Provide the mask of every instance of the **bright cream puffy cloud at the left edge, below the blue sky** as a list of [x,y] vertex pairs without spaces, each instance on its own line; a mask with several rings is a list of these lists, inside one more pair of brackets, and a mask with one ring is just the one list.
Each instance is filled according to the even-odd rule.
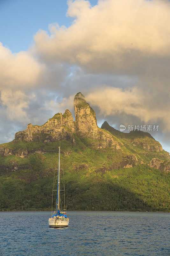
[[35,86],[42,70],[29,52],[14,54],[0,43],[0,89]]

